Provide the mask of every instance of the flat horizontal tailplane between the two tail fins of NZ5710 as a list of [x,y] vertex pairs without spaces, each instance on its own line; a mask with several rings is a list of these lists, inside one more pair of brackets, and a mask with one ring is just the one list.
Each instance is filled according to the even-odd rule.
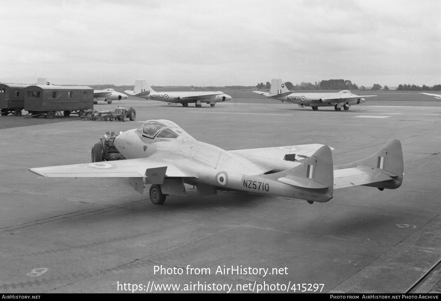
[[334,170],[334,189],[387,181],[391,180],[392,176],[396,175],[366,166],[336,169]]

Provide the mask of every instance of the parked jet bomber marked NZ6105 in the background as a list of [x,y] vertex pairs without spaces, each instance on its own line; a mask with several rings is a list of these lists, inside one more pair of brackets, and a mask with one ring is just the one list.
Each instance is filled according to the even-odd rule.
[[273,78],[271,88],[268,92],[253,91],[268,98],[280,100],[282,103],[297,103],[299,107],[311,106],[313,110],[318,110],[319,106],[334,106],[336,111],[349,110],[353,104],[364,103],[363,97],[372,97],[377,95],[355,95],[351,91],[343,90],[338,93],[295,93],[290,92],[285,87],[284,80]]

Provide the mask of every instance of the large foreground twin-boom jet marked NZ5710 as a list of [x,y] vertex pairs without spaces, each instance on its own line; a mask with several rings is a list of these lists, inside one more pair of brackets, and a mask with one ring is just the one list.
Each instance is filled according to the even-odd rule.
[[125,160],[102,162],[101,144],[92,148],[92,162],[31,168],[48,177],[125,177],[140,194],[151,184],[150,200],[186,196],[184,184],[200,196],[217,191],[277,195],[328,202],[333,190],[357,185],[396,189],[403,181],[403,153],[392,140],[363,160],[333,166],[331,148],[322,144],[290,145],[236,151],[200,142],[168,120],[145,121],[120,132],[114,146]]

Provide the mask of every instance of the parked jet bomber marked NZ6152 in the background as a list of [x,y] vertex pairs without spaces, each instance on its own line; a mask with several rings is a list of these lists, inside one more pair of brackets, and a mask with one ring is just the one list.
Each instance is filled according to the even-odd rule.
[[202,106],[202,103],[209,103],[210,106],[214,106],[216,103],[229,101],[231,99],[230,95],[221,91],[155,92],[147,84],[146,80],[136,80],[134,90],[126,90],[124,92],[131,96],[144,99],[159,100],[167,103],[182,103],[183,106],[188,106],[188,103],[195,103],[197,107]]

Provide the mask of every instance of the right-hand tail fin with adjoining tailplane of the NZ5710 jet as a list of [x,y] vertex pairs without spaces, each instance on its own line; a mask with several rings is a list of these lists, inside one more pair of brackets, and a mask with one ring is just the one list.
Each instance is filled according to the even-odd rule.
[[335,188],[363,185],[396,189],[403,182],[403,168],[400,140],[393,139],[363,160],[334,166]]

